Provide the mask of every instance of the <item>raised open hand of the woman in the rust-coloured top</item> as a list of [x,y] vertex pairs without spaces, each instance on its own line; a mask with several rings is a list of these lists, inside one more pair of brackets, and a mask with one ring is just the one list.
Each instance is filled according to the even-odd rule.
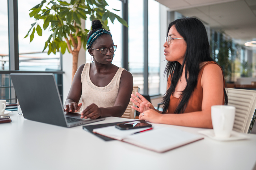
[[146,110],[149,110],[149,109],[155,110],[154,106],[149,101],[147,101],[145,97],[143,97],[138,92],[136,92],[136,95],[138,95],[140,98],[135,96],[134,94],[131,94],[133,98],[130,98],[130,101],[132,101],[137,106],[137,107],[132,106],[133,109],[135,109],[140,113],[145,112]]

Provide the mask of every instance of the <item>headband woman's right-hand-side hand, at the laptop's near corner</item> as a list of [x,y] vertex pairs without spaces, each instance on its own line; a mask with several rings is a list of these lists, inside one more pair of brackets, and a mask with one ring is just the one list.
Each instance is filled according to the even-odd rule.
[[98,117],[100,117],[101,115],[101,110],[100,108],[95,105],[94,103],[92,103],[91,105],[89,105],[88,107],[86,107],[82,112],[81,112],[81,118],[91,118],[91,119],[96,119]]

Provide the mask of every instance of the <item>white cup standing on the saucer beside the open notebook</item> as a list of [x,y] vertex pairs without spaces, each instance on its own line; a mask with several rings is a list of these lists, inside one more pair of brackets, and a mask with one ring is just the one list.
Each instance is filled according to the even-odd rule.
[[215,137],[229,138],[235,120],[235,107],[225,105],[211,106],[211,122]]

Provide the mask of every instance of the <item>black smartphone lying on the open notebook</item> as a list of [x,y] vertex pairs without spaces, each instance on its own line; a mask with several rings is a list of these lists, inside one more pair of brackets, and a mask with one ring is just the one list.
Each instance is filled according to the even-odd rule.
[[124,122],[121,124],[116,124],[116,128],[121,130],[128,130],[128,129],[136,129],[136,128],[143,128],[143,127],[152,127],[152,125],[148,124],[145,121],[134,121],[134,122]]

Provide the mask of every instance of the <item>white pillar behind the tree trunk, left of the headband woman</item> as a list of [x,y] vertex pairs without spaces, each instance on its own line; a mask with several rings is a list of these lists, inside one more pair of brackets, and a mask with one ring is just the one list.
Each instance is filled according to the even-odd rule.
[[[85,29],[85,20],[81,20],[81,23],[82,23],[81,25],[84,26],[82,27],[82,29]],[[77,64],[78,67],[86,63],[85,52],[86,52],[85,49],[83,49],[82,47],[78,55],[78,64]],[[69,89],[71,87],[71,78],[72,78],[72,54],[69,53],[67,50],[63,55],[62,65],[63,65],[63,71],[65,72],[63,74],[63,106],[64,106],[64,103],[69,93]]]

